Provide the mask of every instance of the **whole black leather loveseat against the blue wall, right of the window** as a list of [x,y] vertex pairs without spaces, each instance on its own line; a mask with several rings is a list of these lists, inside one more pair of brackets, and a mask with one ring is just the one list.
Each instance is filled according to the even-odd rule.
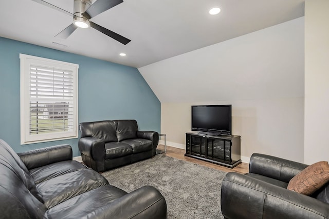
[[136,120],[80,123],[82,161],[98,172],[155,156],[159,134],[138,131]]

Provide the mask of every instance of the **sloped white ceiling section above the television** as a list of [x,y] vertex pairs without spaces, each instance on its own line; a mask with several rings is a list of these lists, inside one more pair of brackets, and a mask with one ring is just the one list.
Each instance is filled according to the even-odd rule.
[[138,69],[161,103],[304,96],[304,17]]

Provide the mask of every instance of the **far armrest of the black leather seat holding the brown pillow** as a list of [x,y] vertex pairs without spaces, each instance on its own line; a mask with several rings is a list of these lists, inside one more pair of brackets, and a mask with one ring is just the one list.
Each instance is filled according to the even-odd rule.
[[289,183],[291,178],[308,165],[280,157],[254,153],[250,157],[249,173],[256,173]]

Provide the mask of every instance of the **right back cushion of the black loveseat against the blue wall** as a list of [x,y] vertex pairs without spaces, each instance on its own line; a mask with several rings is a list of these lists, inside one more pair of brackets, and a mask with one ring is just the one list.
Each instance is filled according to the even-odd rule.
[[121,142],[126,139],[137,138],[138,126],[136,120],[114,120],[117,127],[117,138]]

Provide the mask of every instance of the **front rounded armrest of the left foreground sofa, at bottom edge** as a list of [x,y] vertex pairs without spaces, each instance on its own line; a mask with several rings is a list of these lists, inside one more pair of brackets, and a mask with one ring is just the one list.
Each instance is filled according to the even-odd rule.
[[167,218],[167,203],[161,193],[152,186],[144,186],[118,198],[108,211],[111,218]]

